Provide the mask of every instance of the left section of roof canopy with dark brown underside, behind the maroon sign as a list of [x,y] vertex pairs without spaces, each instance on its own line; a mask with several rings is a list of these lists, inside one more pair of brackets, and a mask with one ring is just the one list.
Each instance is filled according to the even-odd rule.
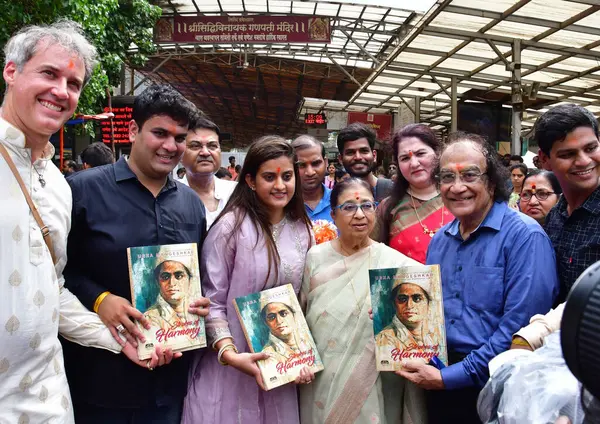
[[[163,17],[206,15],[328,16],[331,43],[161,43],[142,69],[202,108],[234,142],[266,133],[304,132],[305,98],[347,102],[410,29],[419,14],[390,7],[434,0],[179,0],[161,1]],[[133,91],[133,90],[131,90]],[[302,116],[303,117],[303,116]],[[234,146],[235,147],[235,146]]]

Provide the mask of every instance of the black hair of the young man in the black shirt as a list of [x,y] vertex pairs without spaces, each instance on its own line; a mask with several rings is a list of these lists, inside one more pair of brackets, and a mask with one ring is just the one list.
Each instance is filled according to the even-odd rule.
[[170,85],[155,84],[145,89],[133,102],[132,118],[141,129],[157,115],[168,116],[180,125],[189,125],[198,108]]

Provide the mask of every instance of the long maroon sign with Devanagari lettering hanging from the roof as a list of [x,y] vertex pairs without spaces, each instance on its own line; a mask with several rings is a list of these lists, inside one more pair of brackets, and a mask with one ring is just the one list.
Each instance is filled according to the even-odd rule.
[[330,43],[328,17],[173,16],[159,19],[156,43]]

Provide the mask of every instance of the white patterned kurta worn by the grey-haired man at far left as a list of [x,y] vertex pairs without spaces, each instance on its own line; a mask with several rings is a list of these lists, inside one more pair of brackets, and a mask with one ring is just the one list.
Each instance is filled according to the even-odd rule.
[[0,424],[73,423],[58,333],[84,346],[121,350],[98,316],[63,288],[71,190],[49,160],[32,168],[23,134],[0,119],[0,143],[25,181],[49,227],[58,262],[53,265],[25,197],[0,156]]

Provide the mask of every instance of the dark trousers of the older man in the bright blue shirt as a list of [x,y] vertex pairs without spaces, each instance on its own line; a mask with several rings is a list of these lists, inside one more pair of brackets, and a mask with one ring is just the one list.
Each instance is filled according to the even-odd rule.
[[429,424],[481,424],[477,414],[480,389],[427,391]]

